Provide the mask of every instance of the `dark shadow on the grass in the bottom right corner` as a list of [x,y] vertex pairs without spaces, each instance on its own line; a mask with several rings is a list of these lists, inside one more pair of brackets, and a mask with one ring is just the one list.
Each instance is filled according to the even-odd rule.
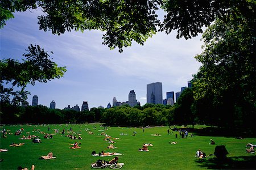
[[196,163],[199,167],[207,169],[256,169],[256,156],[199,159]]

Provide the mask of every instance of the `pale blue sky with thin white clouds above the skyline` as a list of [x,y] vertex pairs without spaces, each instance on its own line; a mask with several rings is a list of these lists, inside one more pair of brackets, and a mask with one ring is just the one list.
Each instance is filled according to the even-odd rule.
[[200,63],[194,58],[202,52],[201,35],[193,39],[176,39],[176,32],[166,35],[158,32],[144,45],[133,42],[131,47],[110,50],[102,45],[101,31],[66,32],[52,35],[51,31],[39,30],[38,19],[42,11],[32,10],[16,12],[15,18],[7,20],[0,29],[0,53],[2,58],[21,59],[30,44],[40,45],[59,66],[66,66],[63,78],[48,83],[36,83],[28,86],[32,96],[39,97],[39,104],[46,105],[52,100],[56,108],[88,101],[89,108],[127,101],[131,90],[137,100],[146,103],[146,86],[153,82],[162,82],[163,98],[168,91],[180,91],[187,86],[192,74],[196,74]]

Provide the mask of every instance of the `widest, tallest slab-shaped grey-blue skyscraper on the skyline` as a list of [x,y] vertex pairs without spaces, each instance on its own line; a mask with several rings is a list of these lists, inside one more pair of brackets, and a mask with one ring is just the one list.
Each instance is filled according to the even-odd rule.
[[163,104],[162,83],[147,84],[147,103]]

